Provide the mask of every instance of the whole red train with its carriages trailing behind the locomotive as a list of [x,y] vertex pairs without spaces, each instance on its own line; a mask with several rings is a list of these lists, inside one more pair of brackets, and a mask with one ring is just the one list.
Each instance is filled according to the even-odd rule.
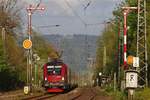
[[77,87],[75,74],[60,59],[49,61],[43,66],[43,86],[49,93],[65,92]]

